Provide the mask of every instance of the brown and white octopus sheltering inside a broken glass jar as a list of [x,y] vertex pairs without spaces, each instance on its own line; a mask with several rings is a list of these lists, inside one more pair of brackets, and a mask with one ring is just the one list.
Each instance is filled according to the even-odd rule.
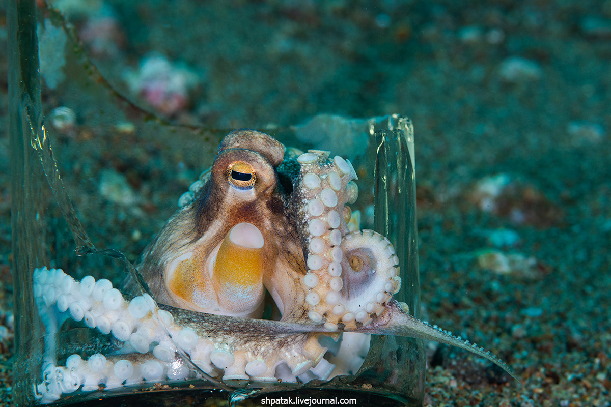
[[231,388],[355,375],[371,334],[463,348],[518,380],[496,356],[393,298],[401,279],[392,244],[349,228],[356,180],[349,160],[329,151],[296,153],[263,132],[230,132],[121,290],[35,270],[48,333],[74,320],[119,344],[64,364],[49,339],[39,400],[196,377]]

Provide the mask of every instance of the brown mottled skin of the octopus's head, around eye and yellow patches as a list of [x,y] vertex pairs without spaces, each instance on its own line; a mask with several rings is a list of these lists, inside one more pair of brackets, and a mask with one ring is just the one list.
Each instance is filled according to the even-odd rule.
[[[196,201],[179,209],[148,245],[136,265],[159,303],[206,312],[194,304],[175,298],[166,287],[164,272],[180,254],[197,248],[210,254],[227,233],[241,222],[252,223],[265,239],[263,284],[278,298],[294,298],[303,303],[298,280],[305,274],[304,252],[287,197],[276,188],[276,167],[284,157],[284,145],[269,135],[252,130],[235,130],[225,136],[211,169],[211,177]],[[254,193],[236,193],[227,181],[227,168],[244,161],[255,170]],[[203,272],[203,270],[202,270]],[[276,295],[274,295],[276,297]],[[279,304],[280,305],[280,304]],[[280,306],[282,308],[282,306]],[[283,320],[299,319],[299,308],[284,309]],[[296,312],[297,315],[293,315]]]

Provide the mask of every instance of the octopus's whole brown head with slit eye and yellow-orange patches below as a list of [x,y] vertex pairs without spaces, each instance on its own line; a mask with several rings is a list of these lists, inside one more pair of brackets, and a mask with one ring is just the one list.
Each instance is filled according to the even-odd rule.
[[274,267],[269,242],[284,218],[276,167],[284,146],[266,134],[225,137],[206,184],[145,250],[137,266],[159,301],[194,311],[262,315],[263,273]]

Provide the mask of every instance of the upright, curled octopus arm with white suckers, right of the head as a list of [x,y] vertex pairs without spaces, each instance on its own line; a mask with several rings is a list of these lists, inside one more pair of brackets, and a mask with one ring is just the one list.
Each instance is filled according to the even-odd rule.
[[384,311],[401,280],[389,240],[373,231],[348,232],[351,211],[345,204],[356,201],[356,173],[349,161],[328,156],[317,150],[299,156],[295,201],[307,245],[308,270],[302,283],[308,317],[335,331],[338,323],[347,329],[370,323],[370,314]]

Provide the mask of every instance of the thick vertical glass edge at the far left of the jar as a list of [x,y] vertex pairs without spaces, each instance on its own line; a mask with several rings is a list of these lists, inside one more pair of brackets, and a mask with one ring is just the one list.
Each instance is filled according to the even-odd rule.
[[12,268],[15,316],[13,403],[34,402],[35,371],[42,360],[43,345],[32,297],[31,270],[48,259],[40,239],[44,218],[37,185],[42,171],[31,146],[32,132],[42,120],[38,45],[34,0],[10,1],[7,9],[9,57],[9,137],[12,178]]

